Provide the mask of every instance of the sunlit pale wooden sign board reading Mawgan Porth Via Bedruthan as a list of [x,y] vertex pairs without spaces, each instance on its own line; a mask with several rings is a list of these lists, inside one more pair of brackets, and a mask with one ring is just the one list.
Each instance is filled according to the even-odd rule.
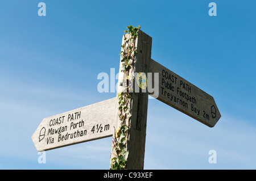
[[32,135],[38,151],[110,137],[116,98],[44,118]]

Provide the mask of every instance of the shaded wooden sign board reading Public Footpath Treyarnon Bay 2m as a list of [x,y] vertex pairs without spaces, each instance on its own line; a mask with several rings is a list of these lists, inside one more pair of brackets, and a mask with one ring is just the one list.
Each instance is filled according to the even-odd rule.
[[[208,127],[214,127],[221,114],[212,96],[152,59],[150,72],[159,73],[159,95],[156,99]],[[154,78],[152,81],[155,85]]]

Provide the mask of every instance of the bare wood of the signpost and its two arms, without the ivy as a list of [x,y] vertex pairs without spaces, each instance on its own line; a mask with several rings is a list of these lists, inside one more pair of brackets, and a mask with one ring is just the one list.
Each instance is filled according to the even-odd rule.
[[[127,39],[125,35],[122,41]],[[152,38],[139,30],[135,41],[137,55],[132,73],[153,73],[152,85],[158,87],[155,98],[171,107],[200,121],[208,127],[214,127],[221,114],[212,96],[199,89],[184,78],[151,59]],[[121,71],[122,60],[120,61]],[[158,74],[157,82],[154,73]],[[125,78],[118,79],[118,85]],[[136,81],[134,81],[136,83]],[[142,90],[133,92],[130,100],[130,130],[127,142],[126,169],[143,169],[146,142],[148,95],[152,92]],[[118,97],[118,96],[117,96]],[[90,106],[43,119],[32,135],[38,151],[45,151],[81,142],[115,136],[115,129],[119,127],[118,99],[112,98]],[[113,145],[112,145],[113,146]],[[114,153],[110,155],[114,157]]]

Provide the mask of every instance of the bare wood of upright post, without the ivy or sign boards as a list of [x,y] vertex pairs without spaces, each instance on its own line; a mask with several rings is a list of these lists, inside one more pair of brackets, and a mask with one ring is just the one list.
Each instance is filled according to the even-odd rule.
[[[127,35],[126,35],[127,36]],[[124,36],[122,42],[124,42]],[[151,46],[152,38],[146,33],[139,30],[137,40],[135,41],[135,47],[137,47],[137,54],[134,60],[134,68],[129,71],[133,73],[147,73],[150,70],[150,61],[151,61]],[[119,74],[121,73],[121,65],[119,68]],[[120,77],[119,77],[120,78]],[[118,79],[118,86],[123,79]],[[137,83],[136,77],[134,78],[134,84]],[[136,90],[132,93],[132,98],[130,102],[130,130],[129,137],[127,142],[127,150],[129,155],[127,157],[126,169],[135,170],[143,169],[144,166],[144,151],[145,151],[145,142],[146,142],[146,125],[147,125],[147,104],[148,104],[148,91],[139,89],[139,92]],[[117,96],[118,99],[118,96]],[[118,102],[118,100],[117,100]],[[114,128],[117,129],[120,125],[118,118],[118,106],[116,106],[116,118],[113,123]],[[113,137],[115,132],[113,133]],[[113,146],[113,144],[112,144]],[[111,154],[112,159],[114,157],[113,153]]]

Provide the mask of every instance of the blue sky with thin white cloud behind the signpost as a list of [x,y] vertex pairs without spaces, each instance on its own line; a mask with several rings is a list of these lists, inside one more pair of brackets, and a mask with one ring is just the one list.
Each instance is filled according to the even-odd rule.
[[39,164],[31,136],[44,117],[115,96],[97,91],[97,75],[117,73],[129,25],[222,115],[208,128],[150,99],[144,169],[256,169],[255,12],[249,0],[0,1],[0,169],[109,169],[111,138],[49,150]]

